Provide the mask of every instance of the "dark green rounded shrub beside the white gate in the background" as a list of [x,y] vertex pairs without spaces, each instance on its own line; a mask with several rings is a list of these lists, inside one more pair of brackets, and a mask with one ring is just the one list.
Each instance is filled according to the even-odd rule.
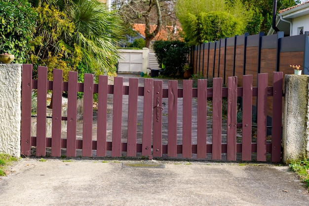
[[164,76],[180,77],[184,75],[184,66],[188,64],[190,46],[183,41],[155,41],[154,53]]

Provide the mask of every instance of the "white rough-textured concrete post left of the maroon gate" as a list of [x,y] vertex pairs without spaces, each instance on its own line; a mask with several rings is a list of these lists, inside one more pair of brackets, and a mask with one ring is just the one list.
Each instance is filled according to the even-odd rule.
[[21,64],[0,64],[0,153],[20,157]]

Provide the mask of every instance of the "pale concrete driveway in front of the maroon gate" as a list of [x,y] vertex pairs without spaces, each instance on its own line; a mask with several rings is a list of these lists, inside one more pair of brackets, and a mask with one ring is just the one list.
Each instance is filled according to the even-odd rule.
[[[131,159],[24,158],[0,179],[0,206],[305,206],[308,189],[286,166]],[[124,164],[125,165],[125,164]],[[15,171],[15,172],[14,172]]]

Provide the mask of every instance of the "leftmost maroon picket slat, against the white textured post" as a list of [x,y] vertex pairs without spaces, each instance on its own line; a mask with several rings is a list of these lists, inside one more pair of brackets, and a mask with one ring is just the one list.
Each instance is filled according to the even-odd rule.
[[21,96],[21,154],[31,155],[32,65],[23,65]]

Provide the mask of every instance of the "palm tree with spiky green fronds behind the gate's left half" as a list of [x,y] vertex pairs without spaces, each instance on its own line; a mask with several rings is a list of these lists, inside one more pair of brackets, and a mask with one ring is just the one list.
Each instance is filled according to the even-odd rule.
[[87,67],[99,74],[116,69],[116,44],[123,36],[121,20],[115,11],[109,11],[106,4],[97,0],[32,0],[32,3],[38,8],[48,6],[63,12],[64,21],[69,20],[74,25],[70,32],[68,23],[59,22],[57,30],[62,31],[61,35],[48,49],[54,56],[60,53],[60,58],[80,57]]

